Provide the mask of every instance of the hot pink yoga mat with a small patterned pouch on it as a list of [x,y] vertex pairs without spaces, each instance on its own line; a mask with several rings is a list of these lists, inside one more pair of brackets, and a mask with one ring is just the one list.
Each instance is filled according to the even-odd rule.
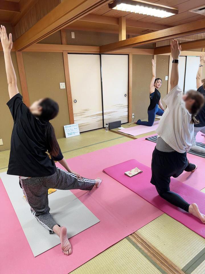
[[[124,172],[135,167],[138,167],[143,172],[132,178],[124,175]],[[109,168],[105,168],[104,172],[163,212],[167,213],[169,216],[173,217],[205,238],[205,225],[198,218],[176,206],[173,206],[158,195],[155,186],[150,183],[151,168],[141,164],[135,159],[132,159]],[[189,204],[197,203],[200,211],[205,213],[205,193],[187,186],[174,178],[171,178],[170,190],[178,193]]]

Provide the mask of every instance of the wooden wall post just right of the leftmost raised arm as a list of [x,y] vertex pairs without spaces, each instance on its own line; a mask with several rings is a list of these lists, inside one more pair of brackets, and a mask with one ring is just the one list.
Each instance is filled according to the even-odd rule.
[[21,83],[21,89],[22,89],[22,95],[23,95],[23,101],[26,106],[30,106],[30,100],[29,100],[29,94],[28,94],[28,87],[26,82],[26,73],[23,63],[23,56],[22,52],[17,51],[17,64],[19,68],[19,76],[20,76],[20,83]]

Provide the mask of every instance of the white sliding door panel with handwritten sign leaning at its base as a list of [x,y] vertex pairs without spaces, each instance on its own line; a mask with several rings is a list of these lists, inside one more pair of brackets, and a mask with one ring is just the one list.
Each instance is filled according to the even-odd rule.
[[68,54],[68,64],[74,122],[80,132],[102,128],[100,55]]

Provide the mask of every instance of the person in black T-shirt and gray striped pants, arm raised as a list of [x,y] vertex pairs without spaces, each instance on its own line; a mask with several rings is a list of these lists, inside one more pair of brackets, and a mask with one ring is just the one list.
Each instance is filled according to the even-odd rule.
[[[49,213],[48,189],[92,190],[94,186],[98,188],[102,180],[82,178],[69,168],[59,148],[54,128],[49,122],[57,116],[58,104],[50,98],[44,98],[28,108],[22,102],[11,60],[12,36],[9,34],[8,39],[2,25],[0,38],[9,85],[10,100],[7,105],[14,120],[7,174],[19,176],[20,187],[32,214],[50,233],[54,232],[60,237],[63,253],[70,255],[72,249],[67,238],[67,229],[60,227]],[[66,171],[56,168],[54,161],[58,161]]]

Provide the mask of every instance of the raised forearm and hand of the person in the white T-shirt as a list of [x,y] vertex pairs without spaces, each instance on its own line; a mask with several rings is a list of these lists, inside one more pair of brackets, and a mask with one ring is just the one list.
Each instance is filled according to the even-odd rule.
[[[179,46],[178,41],[174,39],[171,43],[171,55],[173,60],[178,59],[181,53],[181,46]],[[179,70],[178,64],[173,63],[171,69],[171,78],[170,78],[170,89],[172,90],[179,82]]]

